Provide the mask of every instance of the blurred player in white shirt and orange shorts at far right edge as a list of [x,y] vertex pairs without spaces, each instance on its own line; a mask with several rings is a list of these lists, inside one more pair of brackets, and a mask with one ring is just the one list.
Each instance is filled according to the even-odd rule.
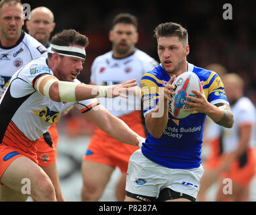
[[210,141],[214,140],[214,147],[204,165],[206,172],[201,179],[204,186],[200,188],[199,201],[206,201],[208,181],[220,179],[216,201],[243,202],[249,200],[249,186],[255,175],[255,106],[245,97],[243,79],[239,75],[228,73],[222,80],[234,115],[234,126],[208,128],[210,135],[207,136]]

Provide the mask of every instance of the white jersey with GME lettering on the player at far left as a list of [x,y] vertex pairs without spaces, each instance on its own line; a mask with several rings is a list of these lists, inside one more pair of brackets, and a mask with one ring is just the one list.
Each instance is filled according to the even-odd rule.
[[46,48],[35,38],[22,31],[12,47],[0,46],[0,95],[6,89],[11,76],[28,62],[39,56],[47,56]]

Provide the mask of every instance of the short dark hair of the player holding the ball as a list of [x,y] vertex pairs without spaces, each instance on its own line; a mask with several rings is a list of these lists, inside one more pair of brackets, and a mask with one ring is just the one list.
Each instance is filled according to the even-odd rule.
[[181,24],[177,24],[175,22],[159,24],[157,28],[155,28],[154,32],[157,40],[159,40],[159,37],[161,36],[178,36],[179,40],[181,40],[183,44],[188,44],[187,30],[183,28]]

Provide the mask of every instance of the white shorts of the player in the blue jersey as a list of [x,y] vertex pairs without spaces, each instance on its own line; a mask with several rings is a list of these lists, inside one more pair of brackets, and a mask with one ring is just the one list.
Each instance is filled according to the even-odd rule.
[[194,169],[163,167],[144,157],[141,150],[138,149],[130,157],[126,177],[126,191],[158,198],[160,191],[169,187],[174,191],[196,198],[203,173],[202,165]]

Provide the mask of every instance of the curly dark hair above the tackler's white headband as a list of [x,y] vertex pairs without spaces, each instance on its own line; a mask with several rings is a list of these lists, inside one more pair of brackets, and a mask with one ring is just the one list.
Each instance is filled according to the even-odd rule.
[[[89,44],[89,40],[87,36],[80,34],[76,30],[62,30],[58,34],[55,34],[50,40],[51,44],[57,46],[70,46],[70,45],[78,45],[86,48]],[[52,58],[52,53],[48,52],[48,58]]]

